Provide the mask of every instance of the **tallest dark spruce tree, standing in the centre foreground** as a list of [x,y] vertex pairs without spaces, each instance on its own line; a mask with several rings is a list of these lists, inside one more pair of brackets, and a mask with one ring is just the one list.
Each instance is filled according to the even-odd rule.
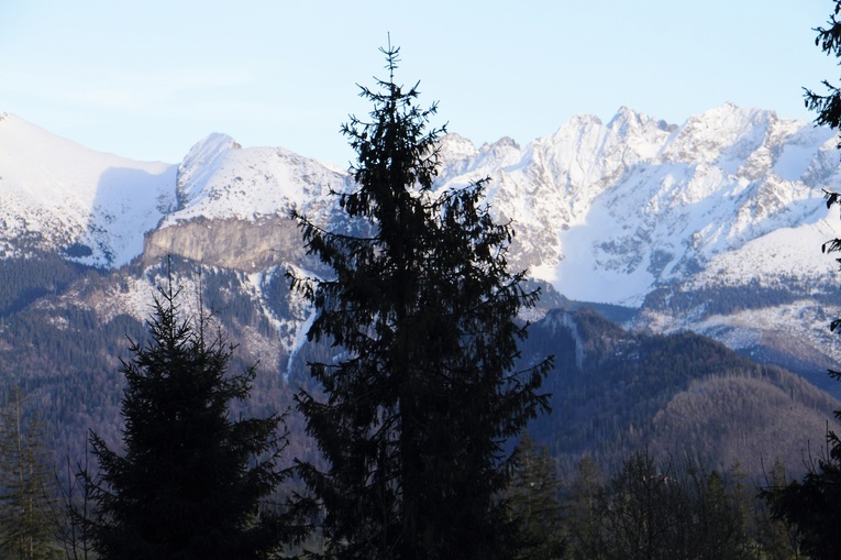
[[299,472],[331,558],[511,558],[505,443],[547,407],[550,367],[517,370],[516,316],[539,294],[508,271],[513,231],[484,205],[487,182],[435,188],[436,107],[395,83],[399,50],[381,52],[388,80],[361,88],[370,120],[342,129],[357,163],[354,189],[336,196],[354,233],[294,212],[332,270],[292,277],[318,311],[308,337],[340,352],[310,364],[323,396],[297,397],[328,465]]

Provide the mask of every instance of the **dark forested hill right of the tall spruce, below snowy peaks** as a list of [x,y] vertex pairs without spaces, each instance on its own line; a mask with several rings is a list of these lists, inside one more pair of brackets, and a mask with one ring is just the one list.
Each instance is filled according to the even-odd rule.
[[801,377],[691,332],[629,332],[586,308],[550,311],[530,332],[524,359],[556,356],[544,385],[553,411],[532,433],[566,472],[583,454],[612,471],[643,448],[753,474],[775,459],[797,471],[838,407]]

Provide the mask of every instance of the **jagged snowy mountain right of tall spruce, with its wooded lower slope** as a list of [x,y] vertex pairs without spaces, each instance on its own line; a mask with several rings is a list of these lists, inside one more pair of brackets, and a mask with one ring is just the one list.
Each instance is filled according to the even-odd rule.
[[[578,117],[520,149],[451,136],[442,179],[490,176],[518,232],[514,264],[571,299],[640,309],[634,326],[695,330],[828,386],[841,361],[841,188],[832,131],[726,105],[667,124],[621,109]],[[829,388],[829,387],[828,387]]]

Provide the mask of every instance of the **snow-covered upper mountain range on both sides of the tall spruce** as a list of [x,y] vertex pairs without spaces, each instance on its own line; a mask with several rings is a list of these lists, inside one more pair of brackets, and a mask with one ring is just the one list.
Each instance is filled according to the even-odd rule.
[[[745,351],[789,333],[841,359],[826,329],[841,314],[827,297],[836,264],[820,251],[841,235],[822,202],[823,189],[841,189],[836,143],[828,129],[732,105],[679,125],[622,108],[608,123],[576,117],[524,147],[450,134],[438,184],[490,177],[491,211],[517,231],[512,266],[571,299],[638,308],[638,327],[696,329]],[[164,254],[248,274],[309,267],[289,210],[330,227],[341,213],[328,194],[350,185],[342,169],[224,134],[167,165],[0,119],[7,256],[38,249],[99,267]],[[715,295],[740,289],[737,306]],[[768,298],[779,289],[787,296]]]

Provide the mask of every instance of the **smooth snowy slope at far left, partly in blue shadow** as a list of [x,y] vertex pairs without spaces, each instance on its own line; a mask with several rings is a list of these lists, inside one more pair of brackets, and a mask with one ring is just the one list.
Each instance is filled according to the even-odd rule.
[[175,204],[176,166],[93,152],[0,114],[0,254],[119,266]]

